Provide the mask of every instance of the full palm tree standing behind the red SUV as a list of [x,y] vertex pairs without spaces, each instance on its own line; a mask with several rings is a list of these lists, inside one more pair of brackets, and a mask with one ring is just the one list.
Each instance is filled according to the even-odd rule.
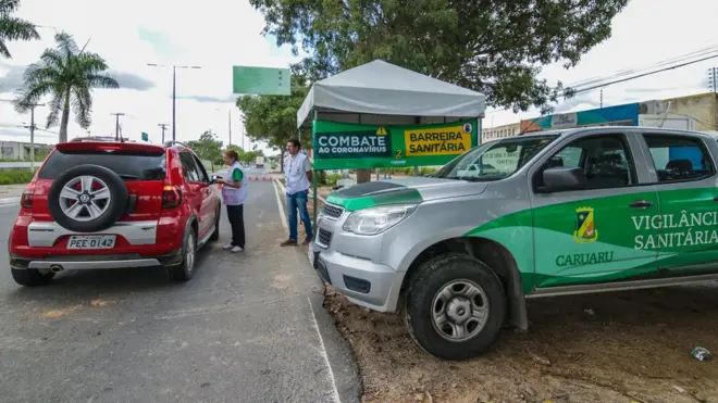
[[[0,0],[1,1],[1,0]],[[114,78],[102,75],[108,65],[97,53],[86,52],[77,47],[72,35],[54,35],[57,48],[46,49],[38,63],[25,70],[24,86],[15,100],[15,110],[26,113],[42,97],[50,96],[50,114],[46,128],[55,126],[60,113],[60,142],[67,141],[70,106],[79,126],[87,129],[91,124],[92,88],[119,88]]]

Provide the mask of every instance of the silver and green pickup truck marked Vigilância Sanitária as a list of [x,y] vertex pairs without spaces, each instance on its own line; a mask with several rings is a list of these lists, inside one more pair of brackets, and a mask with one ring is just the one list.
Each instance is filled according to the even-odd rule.
[[718,279],[717,162],[708,135],[660,128],[492,141],[332,193],[310,257],[354,303],[400,311],[426,352],[466,360],[525,330],[527,299]]

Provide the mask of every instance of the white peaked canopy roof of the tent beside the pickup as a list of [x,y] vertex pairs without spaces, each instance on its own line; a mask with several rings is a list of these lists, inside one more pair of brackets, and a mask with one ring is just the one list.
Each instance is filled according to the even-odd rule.
[[375,60],[314,83],[297,111],[297,127],[311,127],[312,110],[331,121],[322,112],[456,119],[482,116],[485,109],[481,92]]

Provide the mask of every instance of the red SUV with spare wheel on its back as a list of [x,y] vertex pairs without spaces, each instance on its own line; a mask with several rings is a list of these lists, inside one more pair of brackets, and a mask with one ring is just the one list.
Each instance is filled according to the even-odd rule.
[[21,199],[12,276],[39,286],[64,269],[163,266],[186,281],[197,250],[220,236],[213,182],[182,143],[60,143]]

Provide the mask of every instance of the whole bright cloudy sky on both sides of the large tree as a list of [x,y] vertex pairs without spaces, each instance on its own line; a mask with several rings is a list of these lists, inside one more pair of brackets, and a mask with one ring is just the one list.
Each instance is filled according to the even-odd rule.
[[[171,12],[170,12],[171,11]],[[73,34],[78,43],[89,40],[88,49],[106,58],[111,74],[123,86],[119,90],[95,93],[92,135],[114,130],[111,113],[124,112],[123,133],[139,139],[141,131],[160,141],[160,123],[171,123],[172,72],[148,67],[147,63],[200,65],[198,71],[177,71],[177,137],[197,138],[212,128],[227,142],[227,111],[232,109],[233,142],[239,142],[240,116],[233,109],[232,65],[284,67],[296,58],[287,47],[277,49],[274,38],[261,35],[264,21],[247,0],[126,0],[108,3],[98,0],[23,0],[20,16],[41,28],[42,40],[11,43],[12,60],[0,60],[0,99],[11,99],[12,87],[22,78],[24,67],[37,61],[45,48],[52,47],[54,29]],[[608,76],[684,54],[710,45],[718,46],[715,0],[632,0],[612,24],[614,35],[585,54],[579,65],[565,70],[546,66],[542,76],[552,83],[572,84]],[[620,104],[648,99],[678,97],[707,91],[706,70],[718,66],[718,59],[672,72],[614,85],[604,89],[604,104]],[[599,91],[582,93],[561,103],[558,111],[591,109],[599,102]],[[38,109],[44,121],[47,110]],[[513,114],[488,112],[484,127],[535,117],[537,111]],[[29,122],[7,102],[0,102],[0,140],[27,140]],[[51,129],[53,131],[57,128]],[[74,122],[71,136],[82,136]],[[9,138],[10,137],[10,138]],[[55,142],[52,133],[42,133],[38,141]]]

